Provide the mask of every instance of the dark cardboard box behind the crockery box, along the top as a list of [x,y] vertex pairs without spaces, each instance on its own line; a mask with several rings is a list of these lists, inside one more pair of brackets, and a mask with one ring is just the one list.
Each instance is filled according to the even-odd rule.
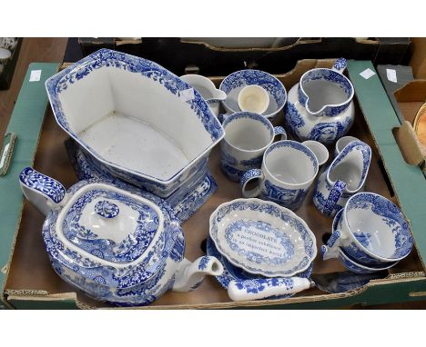
[[[142,37],[141,42],[122,42],[113,40],[117,51],[130,55],[142,56],[177,75],[203,74],[205,76],[226,76],[235,71],[255,68],[269,74],[281,74],[289,71],[301,59],[327,59],[343,56],[347,59],[370,60],[373,64],[408,64],[410,59],[411,40],[408,37],[299,37],[283,40],[277,47],[259,46],[259,38],[253,39],[253,47],[249,47],[247,38],[227,38],[234,40],[237,47],[220,46],[212,38],[206,42],[179,37]],[[265,39],[265,38],[263,38]],[[111,38],[83,39],[78,41],[83,55],[71,55],[75,62],[99,48],[111,46]],[[216,40],[218,41],[218,40]],[[238,46],[238,42],[241,45]],[[72,45],[71,39],[69,45]],[[71,51],[71,50],[70,50]],[[66,54],[67,57],[67,54]]]

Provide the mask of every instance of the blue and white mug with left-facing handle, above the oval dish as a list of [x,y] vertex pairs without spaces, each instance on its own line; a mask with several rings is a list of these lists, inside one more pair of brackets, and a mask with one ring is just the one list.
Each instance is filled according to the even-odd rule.
[[[317,156],[304,144],[279,141],[263,154],[261,169],[252,169],[241,177],[241,191],[246,198],[262,199],[296,210],[303,202],[319,170]],[[256,188],[247,184],[258,180]]]

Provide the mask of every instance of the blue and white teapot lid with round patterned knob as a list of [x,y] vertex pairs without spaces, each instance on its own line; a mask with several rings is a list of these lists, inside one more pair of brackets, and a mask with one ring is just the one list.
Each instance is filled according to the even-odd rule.
[[57,216],[56,232],[70,248],[106,262],[131,263],[155,242],[163,223],[164,214],[156,203],[105,183],[92,183],[66,202]]

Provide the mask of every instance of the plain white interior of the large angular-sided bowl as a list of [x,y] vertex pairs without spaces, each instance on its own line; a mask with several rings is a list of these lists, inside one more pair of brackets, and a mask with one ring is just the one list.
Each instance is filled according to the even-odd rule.
[[158,78],[104,65],[68,84],[58,98],[69,130],[92,151],[159,180],[213,142],[185,97]]

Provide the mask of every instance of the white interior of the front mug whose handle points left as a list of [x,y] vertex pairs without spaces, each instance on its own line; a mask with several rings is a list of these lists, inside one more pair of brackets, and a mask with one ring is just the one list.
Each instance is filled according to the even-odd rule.
[[318,173],[315,154],[294,141],[272,144],[265,153],[264,161],[269,173],[283,183],[308,183]]

